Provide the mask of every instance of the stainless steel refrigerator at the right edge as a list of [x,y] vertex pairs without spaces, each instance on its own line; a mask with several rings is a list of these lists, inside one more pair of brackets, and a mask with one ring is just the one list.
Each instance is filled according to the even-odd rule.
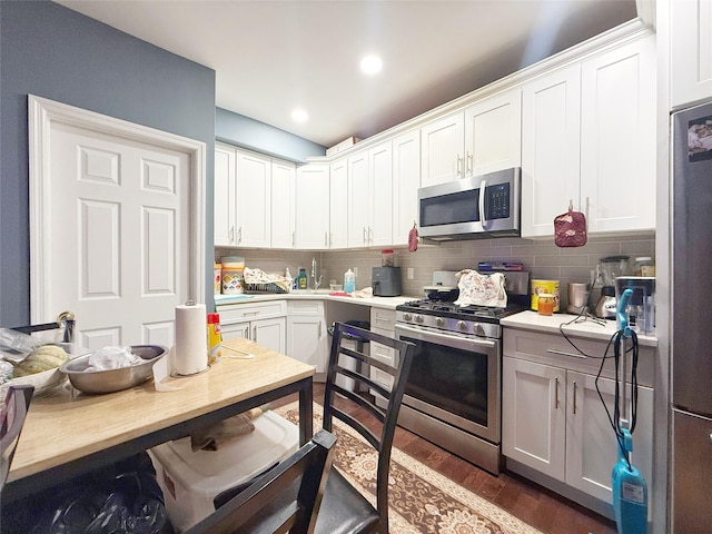
[[712,102],[673,115],[672,532],[712,528]]

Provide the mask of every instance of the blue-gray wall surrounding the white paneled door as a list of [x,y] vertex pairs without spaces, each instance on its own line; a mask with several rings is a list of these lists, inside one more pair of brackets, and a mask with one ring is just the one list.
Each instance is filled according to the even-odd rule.
[[0,326],[8,327],[30,319],[28,93],[205,142],[211,199],[215,71],[47,0],[0,1]]

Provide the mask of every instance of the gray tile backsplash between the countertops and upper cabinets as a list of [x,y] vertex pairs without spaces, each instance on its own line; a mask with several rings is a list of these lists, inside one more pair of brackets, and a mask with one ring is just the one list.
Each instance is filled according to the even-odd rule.
[[[452,241],[441,245],[421,245],[415,253],[396,249],[396,266],[403,271],[403,293],[419,298],[423,286],[433,281],[434,270],[459,270],[476,268],[478,261],[520,261],[532,273],[533,278],[560,280],[562,306],[567,306],[566,284],[591,280],[591,271],[599,259],[605,256],[627,255],[631,267],[637,256],[653,256],[655,235],[646,233],[635,236],[590,237],[589,243],[578,248],[558,248],[552,239],[530,240],[521,238],[497,238],[471,241]],[[370,286],[372,267],[380,265],[380,250],[334,250],[290,251],[261,249],[216,248],[215,257],[244,256],[248,267],[259,267],[267,273],[284,273],[286,267],[293,276],[305,267],[312,287],[312,259],[316,258],[322,288],[328,288],[329,280],[344,283],[344,273],[350,267],[357,269],[356,288]],[[413,268],[413,279],[407,279],[407,269]]]

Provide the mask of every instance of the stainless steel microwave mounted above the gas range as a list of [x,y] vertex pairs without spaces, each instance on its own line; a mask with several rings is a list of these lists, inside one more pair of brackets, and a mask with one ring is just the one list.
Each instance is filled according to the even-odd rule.
[[520,236],[521,175],[514,167],[419,188],[419,235],[435,240]]

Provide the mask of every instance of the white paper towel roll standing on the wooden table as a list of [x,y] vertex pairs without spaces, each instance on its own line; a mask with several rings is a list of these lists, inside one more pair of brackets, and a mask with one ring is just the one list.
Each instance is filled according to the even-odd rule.
[[174,370],[195,375],[208,367],[205,304],[176,306],[176,350]]

